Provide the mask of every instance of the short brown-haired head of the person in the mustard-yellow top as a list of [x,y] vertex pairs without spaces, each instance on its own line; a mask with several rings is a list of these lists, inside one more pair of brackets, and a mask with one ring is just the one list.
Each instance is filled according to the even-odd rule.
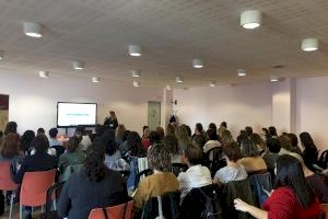
[[168,172],[171,169],[172,157],[168,149],[163,143],[152,146],[148,151],[148,162],[151,169]]

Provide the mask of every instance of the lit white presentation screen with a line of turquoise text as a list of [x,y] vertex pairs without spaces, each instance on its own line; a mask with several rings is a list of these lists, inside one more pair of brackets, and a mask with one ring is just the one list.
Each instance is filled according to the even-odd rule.
[[59,102],[57,104],[57,126],[94,126],[96,124],[96,112],[97,104],[95,103]]

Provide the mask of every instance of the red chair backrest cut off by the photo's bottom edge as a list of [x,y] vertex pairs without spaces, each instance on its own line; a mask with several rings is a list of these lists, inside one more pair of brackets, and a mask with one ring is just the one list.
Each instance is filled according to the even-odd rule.
[[107,208],[95,208],[90,212],[89,219],[106,219],[105,214],[107,214],[109,219],[131,219],[132,207],[133,200]]

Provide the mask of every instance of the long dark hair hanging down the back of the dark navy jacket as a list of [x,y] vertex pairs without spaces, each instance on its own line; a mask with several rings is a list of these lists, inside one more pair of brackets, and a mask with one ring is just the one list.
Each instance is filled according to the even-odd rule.
[[101,142],[92,143],[86,149],[86,158],[84,160],[84,172],[89,181],[101,182],[106,174],[105,147]]

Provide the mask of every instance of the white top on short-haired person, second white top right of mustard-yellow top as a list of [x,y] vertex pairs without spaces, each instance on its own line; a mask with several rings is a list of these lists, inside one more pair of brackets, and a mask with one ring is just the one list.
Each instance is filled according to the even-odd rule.
[[229,183],[231,181],[243,181],[247,178],[247,172],[244,165],[239,164],[238,168],[225,166],[220,169],[215,175],[214,180],[220,181],[221,183]]

